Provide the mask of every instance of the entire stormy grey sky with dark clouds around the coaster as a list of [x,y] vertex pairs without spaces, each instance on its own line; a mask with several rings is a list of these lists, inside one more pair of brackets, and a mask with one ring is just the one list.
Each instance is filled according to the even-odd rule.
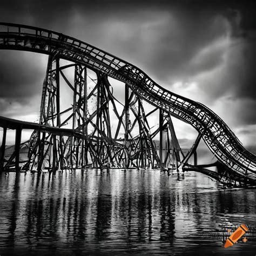
[[[0,21],[62,32],[205,104],[256,152],[256,22],[248,1],[1,1]],[[0,50],[0,115],[36,121],[47,57]],[[194,139],[176,122],[181,140]]]

